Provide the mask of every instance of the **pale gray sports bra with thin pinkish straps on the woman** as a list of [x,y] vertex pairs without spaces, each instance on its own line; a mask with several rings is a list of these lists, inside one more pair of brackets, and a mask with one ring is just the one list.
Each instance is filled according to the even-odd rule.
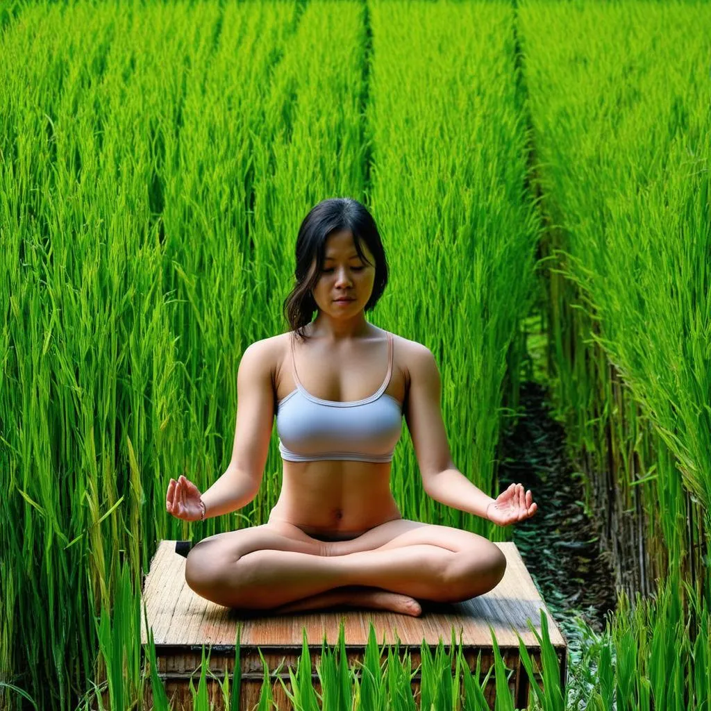
[[392,373],[392,333],[387,333],[387,373],[377,392],[363,400],[322,400],[306,392],[296,374],[294,333],[292,373],[296,388],[277,402],[279,451],[287,461],[391,461],[402,434],[400,403],[385,388]]

